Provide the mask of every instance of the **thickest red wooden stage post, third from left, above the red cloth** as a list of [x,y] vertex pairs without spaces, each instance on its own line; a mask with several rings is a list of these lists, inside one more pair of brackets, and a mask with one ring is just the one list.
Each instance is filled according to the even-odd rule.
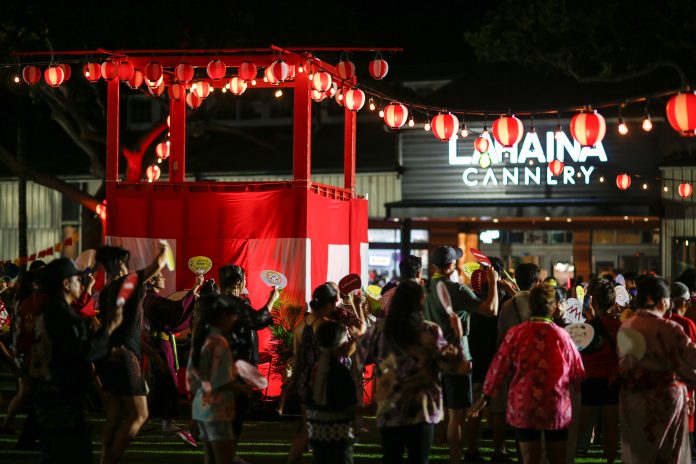
[[292,177],[294,180],[309,181],[312,174],[312,99],[309,67],[302,57],[295,61],[295,69],[300,66],[304,72],[295,71]]

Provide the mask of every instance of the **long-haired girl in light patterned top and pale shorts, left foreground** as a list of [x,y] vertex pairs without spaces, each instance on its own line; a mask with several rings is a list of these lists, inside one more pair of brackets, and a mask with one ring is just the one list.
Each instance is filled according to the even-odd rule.
[[236,322],[239,305],[224,295],[201,297],[197,305],[188,365],[193,419],[205,442],[205,462],[228,463],[234,456],[232,420],[239,384],[224,334]]

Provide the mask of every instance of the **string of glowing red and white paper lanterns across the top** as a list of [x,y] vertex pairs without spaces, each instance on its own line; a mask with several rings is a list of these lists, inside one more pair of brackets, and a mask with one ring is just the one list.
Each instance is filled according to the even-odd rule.
[[[365,106],[365,103],[368,103],[370,111],[374,111],[377,108],[375,104],[375,99],[377,99],[380,102],[379,116],[393,130],[398,130],[406,124],[409,127],[414,127],[414,110],[421,111],[425,112],[426,115],[423,125],[424,130],[432,131],[438,140],[448,142],[453,138],[469,136],[470,131],[463,122],[463,118],[466,116],[483,116],[487,120],[489,115],[496,115],[496,113],[478,110],[448,111],[444,108],[422,104],[404,104],[398,99],[391,98],[365,85],[354,83],[356,66],[347,58],[345,53],[336,65],[337,75],[324,69],[321,61],[313,58],[308,59],[307,68],[306,71],[310,73],[309,79],[312,86],[311,98],[315,102],[334,98],[338,105],[345,106],[350,111],[358,112]],[[126,83],[131,89],[138,89],[145,83],[150,95],[161,96],[165,91],[168,91],[170,98],[174,100],[185,99],[187,105],[192,109],[199,108],[211,92],[214,91],[215,87],[220,87],[223,93],[230,91],[234,95],[242,95],[249,85],[256,85],[256,78],[259,72],[253,62],[245,61],[238,66],[237,75],[226,77],[227,66],[225,63],[220,59],[213,59],[206,67],[207,78],[195,79],[194,66],[182,62],[174,67],[171,82],[167,85],[164,79],[164,69],[159,63],[150,62],[142,70],[139,70],[135,69],[127,57],[119,58],[118,60],[110,58],[102,63],[87,62],[83,65],[82,71],[84,77],[92,83],[98,82],[100,79],[106,81],[118,79]],[[389,65],[387,61],[378,52],[369,63],[368,72],[373,79],[379,81],[386,77],[388,71]],[[296,73],[302,72],[305,72],[303,66],[298,66],[295,69],[294,65],[279,59],[266,66],[263,72],[263,80],[278,85],[287,80],[293,80]],[[30,86],[37,85],[43,77],[47,85],[58,87],[68,81],[72,73],[71,66],[67,63],[50,63],[43,72],[36,64],[26,65],[22,69],[21,74],[24,82]],[[15,76],[14,81],[19,82],[19,77]],[[279,97],[281,95],[282,91],[279,88],[276,91],[276,96]],[[670,126],[681,136],[692,137],[696,135],[696,93],[686,89],[676,93],[671,91],[654,95],[652,98],[669,95],[671,97],[666,104],[665,113]],[[620,134],[626,135],[628,127],[622,116],[622,108],[627,103],[647,101],[648,98],[637,97],[622,102],[604,104],[601,107],[618,106],[618,131]],[[389,103],[382,108],[382,101],[389,101]],[[603,140],[607,130],[606,120],[597,109],[585,107],[569,111],[575,112],[570,120],[570,134],[581,147],[594,147]],[[431,118],[430,113],[436,114]],[[561,110],[518,113],[518,115],[529,115],[532,118],[532,127],[530,129],[532,132],[534,131],[533,117],[535,114],[556,114],[559,118],[556,127],[557,135],[562,131],[560,124]],[[462,117],[461,123],[458,115]],[[647,106],[642,128],[646,132],[652,129],[652,120],[647,112]],[[483,132],[487,132],[486,123],[484,123]],[[512,112],[498,114],[498,117],[493,121],[491,134],[500,145],[510,148],[522,140],[524,124]],[[488,155],[489,141],[482,135],[474,141],[474,148],[481,154],[481,166],[488,167],[491,164],[490,155]],[[169,156],[169,141],[165,140],[159,143],[155,152],[157,163],[167,159]],[[561,174],[563,167],[564,164],[560,160],[552,160],[548,164],[548,169],[554,176]],[[146,169],[146,177],[149,182],[156,181],[160,175],[161,170],[156,164]],[[620,190],[627,190],[631,186],[631,176],[626,173],[620,173],[616,177],[616,185]],[[693,193],[693,187],[689,183],[682,182],[678,192],[682,198],[689,198]]]

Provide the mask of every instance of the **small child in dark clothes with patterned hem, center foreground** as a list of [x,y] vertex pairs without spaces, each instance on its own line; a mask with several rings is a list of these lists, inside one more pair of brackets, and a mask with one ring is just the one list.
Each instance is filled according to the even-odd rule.
[[317,328],[319,360],[307,392],[307,428],[316,464],[353,462],[353,421],[358,398],[350,369],[341,364],[347,334],[333,321]]

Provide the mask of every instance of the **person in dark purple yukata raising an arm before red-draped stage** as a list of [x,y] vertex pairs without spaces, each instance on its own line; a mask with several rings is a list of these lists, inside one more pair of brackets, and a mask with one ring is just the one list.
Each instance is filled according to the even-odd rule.
[[197,446],[191,433],[174,424],[179,397],[177,386],[179,357],[175,334],[191,328],[194,303],[202,284],[203,276],[199,275],[196,277],[195,287],[181,300],[173,301],[160,296],[166,281],[159,272],[147,282],[143,299],[145,319],[150,325],[148,344],[154,350],[154,356],[151,359],[154,382],[148,395],[150,416],[162,419],[163,432],[175,432],[179,438],[191,446]]

